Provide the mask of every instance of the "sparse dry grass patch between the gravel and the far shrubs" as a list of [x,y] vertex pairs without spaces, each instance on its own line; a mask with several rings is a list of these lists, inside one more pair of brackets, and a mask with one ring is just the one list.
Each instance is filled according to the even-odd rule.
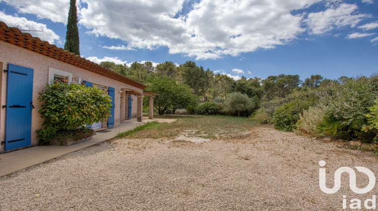
[[[195,131],[202,138],[215,139],[218,136],[228,138],[240,138],[240,132],[258,125],[255,121],[247,118],[226,117],[226,116],[196,116],[196,115],[164,115],[158,116],[163,119],[177,119],[173,123],[147,123],[132,131],[117,134],[117,138],[139,138],[139,139],[173,139],[179,133]],[[204,134],[204,135],[202,135]],[[234,137],[235,136],[235,137]],[[237,136],[237,137],[236,137]]]

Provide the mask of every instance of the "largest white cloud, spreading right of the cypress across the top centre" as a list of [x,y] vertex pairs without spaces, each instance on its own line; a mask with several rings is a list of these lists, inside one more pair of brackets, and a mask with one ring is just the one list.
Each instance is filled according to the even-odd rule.
[[[274,48],[303,32],[301,15],[291,15],[321,0],[277,2],[203,0],[185,17],[173,18],[184,0],[82,0],[80,24],[97,36],[128,43],[113,49],[169,48],[196,59]],[[279,7],[277,5],[280,5]]]

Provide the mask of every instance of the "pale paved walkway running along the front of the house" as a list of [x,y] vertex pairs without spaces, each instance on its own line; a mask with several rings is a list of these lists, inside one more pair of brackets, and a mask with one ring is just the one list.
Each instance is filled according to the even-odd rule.
[[35,146],[14,152],[0,154],[0,176],[10,174],[12,172],[45,162],[47,160],[59,157],[61,155],[80,150],[99,142],[114,138],[119,132],[129,131],[139,125],[144,125],[147,122],[173,122],[175,120],[154,119],[149,120],[143,118],[143,122],[137,122],[137,119],[125,120],[120,127],[107,129],[106,133],[97,132],[91,140],[73,144],[70,146]]

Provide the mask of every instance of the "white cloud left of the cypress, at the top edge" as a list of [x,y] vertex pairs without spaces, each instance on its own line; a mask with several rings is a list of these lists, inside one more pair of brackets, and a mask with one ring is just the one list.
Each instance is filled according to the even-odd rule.
[[[1,2],[1,1],[0,1]],[[19,13],[34,14],[52,22],[67,23],[70,0],[3,0]]]

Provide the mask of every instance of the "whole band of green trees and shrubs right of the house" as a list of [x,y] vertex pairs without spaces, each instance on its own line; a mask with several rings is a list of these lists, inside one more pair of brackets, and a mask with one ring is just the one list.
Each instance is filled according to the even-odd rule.
[[[311,75],[271,75],[266,79],[214,74],[193,61],[134,62],[102,66],[146,83],[159,93],[159,115],[199,114],[251,117],[282,131],[372,143],[378,134],[378,76],[341,76],[337,80]],[[148,106],[147,99],[146,103]]]

